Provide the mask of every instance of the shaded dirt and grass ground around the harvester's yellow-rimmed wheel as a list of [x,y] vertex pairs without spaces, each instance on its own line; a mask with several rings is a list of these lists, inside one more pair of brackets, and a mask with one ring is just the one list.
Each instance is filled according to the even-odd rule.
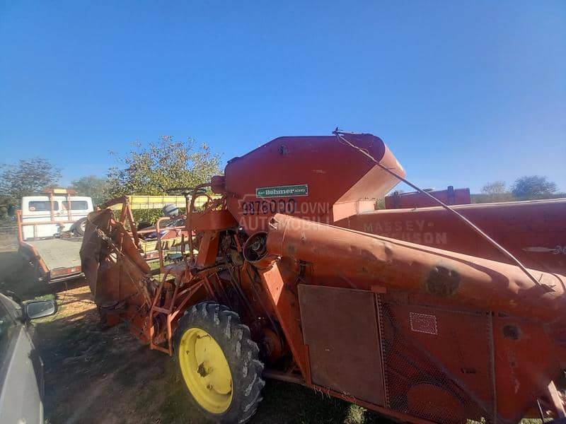
[[[83,281],[37,282],[17,252],[0,252],[0,290],[24,300],[57,298],[59,311],[34,322],[45,364],[45,423],[202,423],[187,401],[173,358],[150,351],[125,326],[100,331]],[[268,381],[258,413],[267,423],[388,423],[364,408],[298,386]]]

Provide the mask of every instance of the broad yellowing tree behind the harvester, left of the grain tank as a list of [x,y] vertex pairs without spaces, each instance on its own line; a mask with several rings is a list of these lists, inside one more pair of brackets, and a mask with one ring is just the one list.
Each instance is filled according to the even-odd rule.
[[108,193],[163,194],[173,187],[195,187],[208,182],[220,172],[220,155],[212,153],[207,144],[197,146],[194,139],[175,141],[172,136],[162,136],[156,143],[149,143],[126,155],[115,155],[118,166],[108,171]]

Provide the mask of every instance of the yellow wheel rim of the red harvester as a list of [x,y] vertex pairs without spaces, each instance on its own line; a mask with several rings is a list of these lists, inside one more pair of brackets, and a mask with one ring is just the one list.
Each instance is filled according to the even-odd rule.
[[207,331],[185,331],[179,345],[183,379],[192,396],[212,413],[225,412],[232,403],[232,374],[222,348]]

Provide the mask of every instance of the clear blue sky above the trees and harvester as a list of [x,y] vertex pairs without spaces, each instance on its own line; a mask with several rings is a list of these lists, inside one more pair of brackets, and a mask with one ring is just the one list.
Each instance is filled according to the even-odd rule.
[[2,163],[69,182],[164,134],[225,162],[335,126],[422,187],[566,191],[566,1],[0,0]]

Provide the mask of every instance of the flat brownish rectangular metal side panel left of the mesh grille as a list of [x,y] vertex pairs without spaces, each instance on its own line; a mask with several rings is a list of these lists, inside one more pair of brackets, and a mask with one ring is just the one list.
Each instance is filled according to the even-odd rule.
[[366,290],[299,285],[313,383],[383,406],[374,296]]

